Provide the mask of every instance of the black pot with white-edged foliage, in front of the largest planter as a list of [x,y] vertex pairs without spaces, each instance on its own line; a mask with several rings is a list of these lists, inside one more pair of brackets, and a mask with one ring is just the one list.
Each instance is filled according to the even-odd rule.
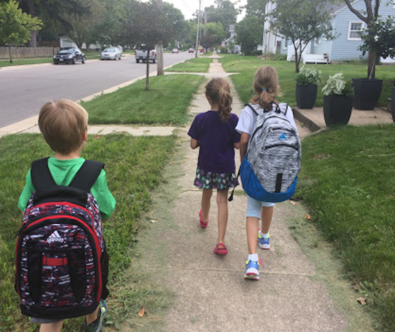
[[352,111],[352,97],[324,96],[324,119],[327,126],[348,124]]

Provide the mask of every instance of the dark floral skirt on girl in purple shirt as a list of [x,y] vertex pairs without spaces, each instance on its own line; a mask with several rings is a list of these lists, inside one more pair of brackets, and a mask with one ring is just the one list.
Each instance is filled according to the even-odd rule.
[[196,170],[194,185],[200,189],[227,189],[239,185],[236,173],[214,173],[206,172],[203,169]]

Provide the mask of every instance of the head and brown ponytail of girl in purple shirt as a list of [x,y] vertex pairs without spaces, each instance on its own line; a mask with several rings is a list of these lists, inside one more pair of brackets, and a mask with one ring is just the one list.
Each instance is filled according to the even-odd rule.
[[218,103],[218,111],[222,122],[228,121],[232,111],[232,95],[230,85],[226,79],[214,78],[206,85],[206,95],[214,102]]

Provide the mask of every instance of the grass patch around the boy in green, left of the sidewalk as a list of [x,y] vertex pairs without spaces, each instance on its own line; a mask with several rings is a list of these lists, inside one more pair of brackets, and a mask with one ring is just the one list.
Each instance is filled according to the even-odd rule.
[[[138,312],[143,298],[151,301],[160,296],[160,288],[141,285],[140,280],[129,280],[133,292],[117,296],[120,279],[130,265],[130,250],[135,244],[137,230],[143,227],[141,218],[150,206],[150,192],[164,182],[162,169],[173,158],[175,136],[132,137],[126,135],[88,136],[83,156],[105,162],[109,188],[117,199],[113,216],[104,223],[104,236],[109,251],[113,296],[109,298],[112,313],[109,321],[122,319],[124,301],[128,310]],[[13,288],[15,232],[22,214],[17,210],[26,172],[34,159],[53,155],[41,135],[9,135],[0,139],[0,331],[35,331],[36,326],[23,317],[19,298]],[[144,221],[144,219],[143,219]],[[119,295],[119,294],[118,294]],[[163,302],[163,299],[160,299]],[[161,304],[156,304],[160,306]],[[118,313],[118,315],[116,314]],[[82,331],[83,317],[70,319],[65,331]]]

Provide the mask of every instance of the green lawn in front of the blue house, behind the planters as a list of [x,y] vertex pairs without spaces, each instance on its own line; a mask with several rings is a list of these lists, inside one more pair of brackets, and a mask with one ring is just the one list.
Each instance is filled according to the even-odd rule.
[[[295,97],[295,63],[288,61],[261,60],[255,56],[226,55],[220,59],[222,66],[227,72],[239,73],[232,75],[232,81],[235,89],[239,93],[244,103],[247,103],[251,96],[252,81],[254,72],[260,66],[274,66],[280,79],[280,91],[282,96],[278,97],[279,101],[288,103],[290,106],[296,106]],[[303,64],[301,64],[301,67]],[[323,95],[322,88],[329,75],[342,71],[346,79],[366,78],[367,64],[365,62],[352,62],[344,64],[307,64],[308,68],[317,68],[322,72],[322,83],[318,86],[318,95],[316,106],[322,106]],[[378,102],[379,106],[387,106],[387,98],[391,97],[393,81],[395,79],[395,66],[380,65],[376,66],[376,78],[383,80],[383,89]]]

